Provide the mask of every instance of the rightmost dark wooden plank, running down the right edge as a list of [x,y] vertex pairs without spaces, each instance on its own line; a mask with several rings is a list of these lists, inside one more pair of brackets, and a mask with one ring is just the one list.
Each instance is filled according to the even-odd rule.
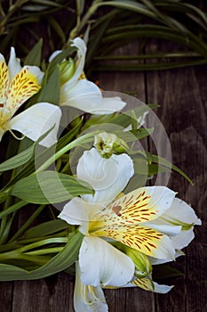
[[[157,311],[206,310],[206,67],[147,74],[150,103],[161,103],[159,118],[170,137],[173,163],[195,182],[191,186],[178,175],[169,186],[179,197],[192,204],[203,226],[195,228],[195,241],[187,247],[185,259],[176,267],[185,278],[175,280],[176,287],[166,296],[157,296]],[[173,280],[174,283],[174,280]]]

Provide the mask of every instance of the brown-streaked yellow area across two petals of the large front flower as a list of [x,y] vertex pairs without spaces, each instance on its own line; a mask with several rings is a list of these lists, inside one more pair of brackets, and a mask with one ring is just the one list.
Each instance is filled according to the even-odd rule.
[[156,250],[166,237],[141,225],[156,218],[155,205],[149,204],[149,201],[150,196],[144,188],[124,195],[97,215],[101,220],[100,227],[93,228],[92,233],[112,238],[147,256],[155,257]]

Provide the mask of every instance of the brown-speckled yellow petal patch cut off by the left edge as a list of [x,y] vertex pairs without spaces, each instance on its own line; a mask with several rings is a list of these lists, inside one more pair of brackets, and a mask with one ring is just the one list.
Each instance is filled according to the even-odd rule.
[[5,62],[0,62],[0,107],[4,107],[9,86],[9,70]]

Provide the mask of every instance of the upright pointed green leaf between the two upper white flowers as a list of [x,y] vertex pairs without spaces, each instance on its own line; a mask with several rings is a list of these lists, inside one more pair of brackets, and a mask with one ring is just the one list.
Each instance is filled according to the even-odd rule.
[[48,102],[55,105],[59,104],[60,99],[60,72],[56,67],[52,75],[48,78],[46,85],[40,91],[38,102]]

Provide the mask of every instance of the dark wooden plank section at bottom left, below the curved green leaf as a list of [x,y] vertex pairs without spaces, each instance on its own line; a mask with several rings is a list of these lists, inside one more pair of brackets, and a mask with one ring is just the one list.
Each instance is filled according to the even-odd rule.
[[64,273],[14,284],[12,312],[74,312],[74,283]]

